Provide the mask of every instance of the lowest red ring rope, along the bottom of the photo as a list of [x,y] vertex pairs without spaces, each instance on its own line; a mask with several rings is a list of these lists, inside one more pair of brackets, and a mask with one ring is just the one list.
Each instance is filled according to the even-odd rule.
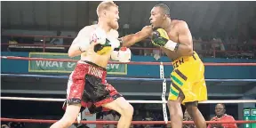
[[[42,120],[42,119],[15,119],[3,118],[1,121],[5,122],[22,122],[22,123],[44,123],[53,124],[58,120]],[[169,121],[168,124],[171,122]],[[207,124],[252,124],[256,121],[206,121]],[[77,122],[75,123],[77,124]],[[81,121],[81,124],[117,124],[117,121]],[[164,121],[132,121],[132,124],[165,124]],[[183,124],[194,124],[193,121],[183,121]]]

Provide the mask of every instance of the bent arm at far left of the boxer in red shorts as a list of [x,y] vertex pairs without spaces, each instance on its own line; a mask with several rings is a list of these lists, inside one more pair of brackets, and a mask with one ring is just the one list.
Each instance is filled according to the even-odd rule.
[[68,56],[75,57],[85,52],[90,45],[90,30],[91,27],[85,27],[81,29],[73,40],[71,46],[68,49]]

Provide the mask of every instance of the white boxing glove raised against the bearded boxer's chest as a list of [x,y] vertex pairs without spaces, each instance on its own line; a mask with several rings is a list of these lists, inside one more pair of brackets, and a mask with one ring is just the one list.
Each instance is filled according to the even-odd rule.
[[106,43],[107,34],[102,28],[96,28],[92,32],[91,42],[105,44]]

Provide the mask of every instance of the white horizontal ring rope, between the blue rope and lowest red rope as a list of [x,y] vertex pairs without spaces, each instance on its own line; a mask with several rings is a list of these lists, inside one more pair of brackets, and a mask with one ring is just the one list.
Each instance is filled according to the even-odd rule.
[[[25,97],[0,97],[1,100],[34,100],[34,101],[65,101],[65,99],[52,98],[25,98]],[[128,100],[130,103],[167,103],[163,100]],[[202,104],[208,103],[256,103],[256,100],[207,100],[199,102]]]

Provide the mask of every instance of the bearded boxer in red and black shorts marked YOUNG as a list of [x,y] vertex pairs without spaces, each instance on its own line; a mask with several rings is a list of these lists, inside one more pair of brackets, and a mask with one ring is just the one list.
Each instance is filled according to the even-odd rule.
[[80,110],[95,113],[101,107],[113,109],[121,117],[117,128],[128,128],[132,122],[132,105],[106,81],[108,60],[128,62],[131,51],[120,48],[118,41],[119,15],[114,2],[101,2],[97,8],[98,24],[80,30],[68,50],[69,57],[81,55],[81,60],[69,76],[66,108],[60,121],[51,128],[67,128],[76,121]]

